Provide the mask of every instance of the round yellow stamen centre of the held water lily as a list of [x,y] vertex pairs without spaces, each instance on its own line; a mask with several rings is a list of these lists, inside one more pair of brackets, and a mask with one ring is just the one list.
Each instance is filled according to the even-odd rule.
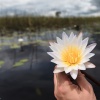
[[68,66],[77,65],[82,59],[82,50],[78,46],[68,46],[61,53],[62,61]]

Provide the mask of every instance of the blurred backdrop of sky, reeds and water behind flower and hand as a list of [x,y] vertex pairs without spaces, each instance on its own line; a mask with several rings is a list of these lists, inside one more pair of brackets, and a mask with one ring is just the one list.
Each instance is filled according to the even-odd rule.
[[0,0],[0,100],[55,100],[46,52],[63,31],[97,43],[86,72],[100,82],[100,0]]

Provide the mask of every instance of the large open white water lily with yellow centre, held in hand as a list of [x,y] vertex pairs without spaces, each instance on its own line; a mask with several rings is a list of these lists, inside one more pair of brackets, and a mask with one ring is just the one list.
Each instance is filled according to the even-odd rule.
[[90,53],[96,46],[96,43],[88,44],[88,37],[82,40],[82,33],[78,36],[73,33],[68,37],[65,32],[62,39],[57,37],[57,43],[50,43],[53,52],[47,52],[54,59],[51,62],[57,64],[54,73],[70,73],[73,79],[77,78],[78,70],[86,70],[86,68],[95,68],[95,65],[88,62],[94,56]]

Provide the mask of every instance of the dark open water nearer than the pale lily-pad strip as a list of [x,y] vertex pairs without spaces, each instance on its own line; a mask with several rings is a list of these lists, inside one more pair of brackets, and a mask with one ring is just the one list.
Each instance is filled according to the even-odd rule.
[[[48,41],[50,37],[55,39],[56,35],[49,34],[45,38],[41,38]],[[53,94],[55,65],[50,63],[51,57],[46,53],[49,51],[48,45],[27,45],[23,49],[22,52],[20,49],[0,51],[0,60],[4,61],[0,69],[0,100],[55,100]],[[93,52],[96,55],[91,59],[91,62],[96,65],[96,68],[88,69],[86,72],[100,82],[99,46]],[[28,61],[14,67],[14,64],[21,59],[28,59]],[[98,100],[100,100],[100,87],[92,82],[91,84]]]

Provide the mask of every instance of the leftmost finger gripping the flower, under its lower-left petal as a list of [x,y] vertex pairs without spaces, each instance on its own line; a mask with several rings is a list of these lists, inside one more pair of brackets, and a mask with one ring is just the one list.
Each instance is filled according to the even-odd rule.
[[71,92],[72,88],[76,86],[71,82],[69,75],[65,74],[65,72],[54,74],[54,84],[56,91],[58,91],[60,88],[60,90],[63,92]]

